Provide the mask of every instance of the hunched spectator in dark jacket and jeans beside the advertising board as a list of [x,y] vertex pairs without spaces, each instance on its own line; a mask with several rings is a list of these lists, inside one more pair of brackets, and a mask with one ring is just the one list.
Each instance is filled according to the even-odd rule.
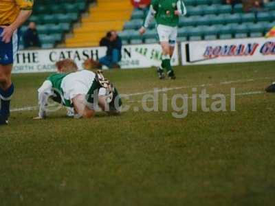
[[117,32],[108,32],[100,41],[100,46],[107,47],[106,56],[99,59],[101,65],[109,68],[120,68],[118,62],[121,60],[122,41]]

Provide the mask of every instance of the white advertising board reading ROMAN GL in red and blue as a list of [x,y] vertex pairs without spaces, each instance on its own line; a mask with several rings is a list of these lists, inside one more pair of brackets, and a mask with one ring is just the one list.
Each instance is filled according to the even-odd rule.
[[242,38],[181,43],[182,65],[275,60],[275,38]]

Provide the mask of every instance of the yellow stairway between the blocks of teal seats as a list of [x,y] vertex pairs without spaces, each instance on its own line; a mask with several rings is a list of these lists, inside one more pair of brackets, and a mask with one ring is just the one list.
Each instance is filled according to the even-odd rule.
[[[89,10],[89,16],[81,19],[80,27],[74,29],[72,38],[67,38],[67,47],[98,46],[109,30],[121,31],[129,21],[133,5],[130,0],[98,0]],[[139,17],[139,16],[137,16]]]

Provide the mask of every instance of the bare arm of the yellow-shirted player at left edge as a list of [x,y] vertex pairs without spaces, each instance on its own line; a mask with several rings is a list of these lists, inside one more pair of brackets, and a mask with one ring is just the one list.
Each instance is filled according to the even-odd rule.
[[32,10],[21,10],[14,23],[7,27],[3,27],[4,30],[1,34],[2,41],[5,43],[10,43],[13,32],[17,30],[17,28],[19,28],[25,21],[27,21],[30,14],[32,14]]

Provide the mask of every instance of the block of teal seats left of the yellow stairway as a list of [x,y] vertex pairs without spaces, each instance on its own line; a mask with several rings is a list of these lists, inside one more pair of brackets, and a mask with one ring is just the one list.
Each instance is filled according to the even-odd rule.
[[[52,48],[63,41],[72,23],[78,21],[80,14],[87,8],[88,0],[40,0],[35,1],[29,21],[37,25],[42,48]],[[21,32],[28,28],[28,22],[21,27]],[[22,38],[20,48],[23,48]]]

